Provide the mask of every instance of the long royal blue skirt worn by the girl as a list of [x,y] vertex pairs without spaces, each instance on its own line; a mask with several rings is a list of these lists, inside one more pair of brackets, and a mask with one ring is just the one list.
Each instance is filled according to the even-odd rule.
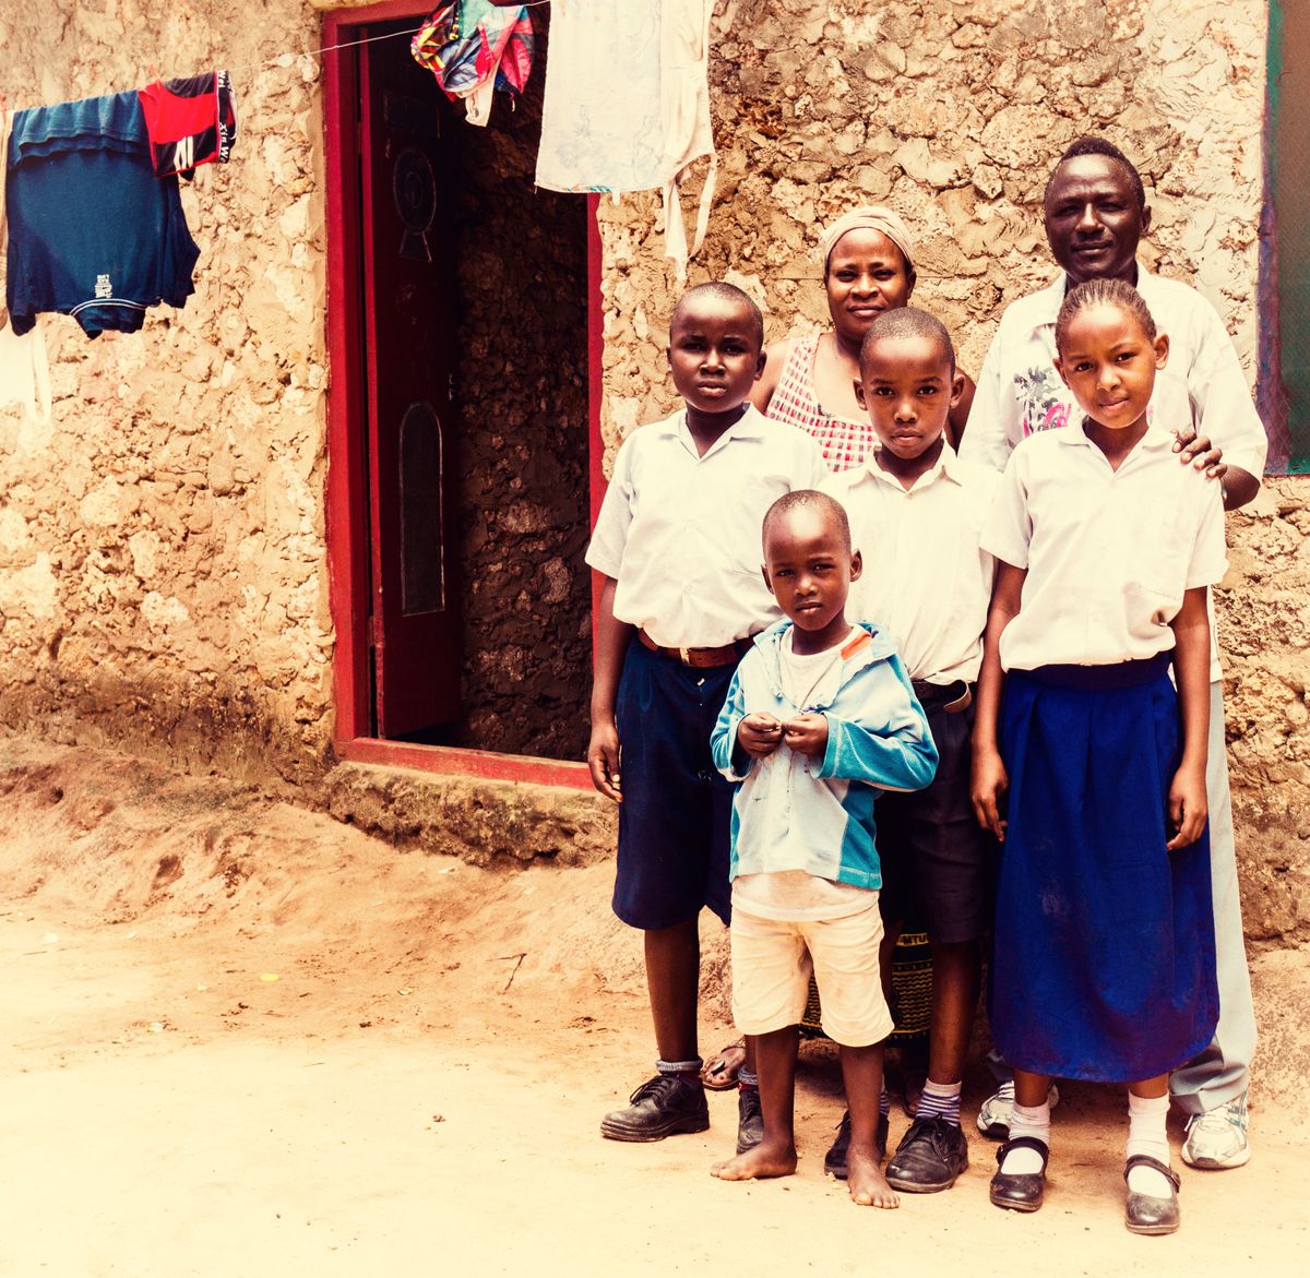
[[990,1013],[1022,1070],[1134,1082],[1214,1034],[1209,831],[1165,850],[1179,728],[1167,653],[1006,677]]

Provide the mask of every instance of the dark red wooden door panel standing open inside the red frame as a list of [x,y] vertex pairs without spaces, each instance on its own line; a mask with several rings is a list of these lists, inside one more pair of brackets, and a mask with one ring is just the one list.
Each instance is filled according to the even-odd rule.
[[359,58],[369,639],[376,732],[402,737],[460,714],[455,288],[441,147],[449,114],[406,38],[364,45]]

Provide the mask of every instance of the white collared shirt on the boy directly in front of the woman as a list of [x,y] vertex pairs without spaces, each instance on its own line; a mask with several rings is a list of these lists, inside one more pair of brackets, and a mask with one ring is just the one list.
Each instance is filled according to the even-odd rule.
[[820,488],[846,508],[865,571],[846,615],[884,630],[913,680],[973,682],[996,560],[979,545],[1001,477],[960,461],[950,444],[908,491],[878,454]]

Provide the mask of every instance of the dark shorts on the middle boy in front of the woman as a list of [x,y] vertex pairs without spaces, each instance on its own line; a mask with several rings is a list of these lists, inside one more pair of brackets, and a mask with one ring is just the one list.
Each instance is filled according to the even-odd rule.
[[912,923],[943,945],[979,940],[992,926],[993,843],[969,800],[973,707],[924,707],[937,742],[937,775],[924,790],[879,795],[878,856],[887,923]]

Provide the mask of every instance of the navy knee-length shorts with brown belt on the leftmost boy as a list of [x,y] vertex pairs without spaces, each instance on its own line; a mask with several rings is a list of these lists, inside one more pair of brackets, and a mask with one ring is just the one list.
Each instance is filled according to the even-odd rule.
[[693,670],[634,636],[618,681],[618,875],[614,913],[643,930],[685,923],[709,906],[728,922],[731,782],[710,733],[734,666]]

